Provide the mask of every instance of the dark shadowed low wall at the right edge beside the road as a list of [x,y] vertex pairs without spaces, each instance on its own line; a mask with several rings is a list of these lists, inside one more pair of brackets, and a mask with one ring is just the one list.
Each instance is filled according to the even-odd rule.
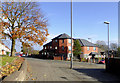
[[120,74],[120,57],[105,59],[106,70],[109,72]]

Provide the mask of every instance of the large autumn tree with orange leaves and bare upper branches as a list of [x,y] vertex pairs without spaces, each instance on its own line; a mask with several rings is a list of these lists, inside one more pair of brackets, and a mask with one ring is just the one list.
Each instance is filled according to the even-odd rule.
[[39,45],[47,40],[47,19],[36,2],[3,2],[1,11],[2,37],[12,40],[11,56],[15,54],[16,39],[23,43],[33,41]]

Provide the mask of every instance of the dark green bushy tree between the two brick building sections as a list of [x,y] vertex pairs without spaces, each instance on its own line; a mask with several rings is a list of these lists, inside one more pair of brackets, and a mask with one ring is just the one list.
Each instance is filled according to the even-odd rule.
[[78,56],[81,54],[81,45],[79,43],[79,40],[74,40],[74,46],[73,46],[73,54],[75,56]]

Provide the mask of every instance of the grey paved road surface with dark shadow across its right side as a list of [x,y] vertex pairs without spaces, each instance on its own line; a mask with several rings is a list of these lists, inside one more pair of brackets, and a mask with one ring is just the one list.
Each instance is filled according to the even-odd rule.
[[26,58],[26,81],[120,81],[119,77],[105,72],[104,64]]

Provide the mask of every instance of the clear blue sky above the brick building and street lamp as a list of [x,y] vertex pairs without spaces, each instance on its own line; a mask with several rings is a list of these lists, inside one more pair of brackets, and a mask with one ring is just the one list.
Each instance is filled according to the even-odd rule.
[[[48,18],[50,35],[47,42],[62,33],[71,35],[70,2],[38,2],[38,4],[45,17]],[[97,40],[103,40],[107,43],[107,25],[104,24],[104,21],[110,22],[110,42],[117,42],[117,2],[73,2],[74,38],[86,40],[91,38],[93,43],[96,43]],[[42,47],[37,45],[34,46],[34,49],[41,50]]]

